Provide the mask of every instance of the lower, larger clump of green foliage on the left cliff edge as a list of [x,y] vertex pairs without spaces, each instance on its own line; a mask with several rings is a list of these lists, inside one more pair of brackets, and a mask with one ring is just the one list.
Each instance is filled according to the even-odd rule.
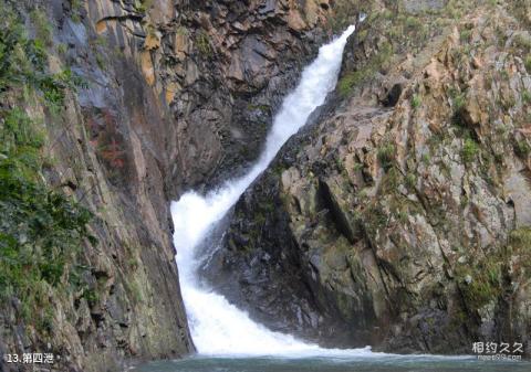
[[0,298],[30,296],[39,283],[59,287],[66,264],[92,238],[92,214],[43,182],[44,136],[20,109],[1,113],[0,127]]

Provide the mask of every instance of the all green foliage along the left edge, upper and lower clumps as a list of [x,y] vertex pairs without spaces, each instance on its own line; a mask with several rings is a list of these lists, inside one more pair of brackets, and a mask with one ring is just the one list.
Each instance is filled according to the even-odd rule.
[[[23,87],[37,89],[49,107],[64,105],[66,89],[85,84],[70,70],[46,72],[52,30],[45,13],[30,14],[37,35],[30,40],[23,22],[6,3],[0,11],[0,97]],[[86,228],[92,214],[45,183],[44,129],[24,110],[6,107],[0,110],[0,304],[19,298],[19,316],[49,332],[50,289],[65,288],[82,241],[95,243]]]

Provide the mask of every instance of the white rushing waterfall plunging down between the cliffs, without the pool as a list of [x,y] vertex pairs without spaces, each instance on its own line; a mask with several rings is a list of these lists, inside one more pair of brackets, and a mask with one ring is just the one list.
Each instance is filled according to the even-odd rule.
[[320,49],[317,59],[302,73],[298,87],[285,97],[267,138],[264,151],[246,176],[228,181],[206,196],[188,192],[171,204],[180,286],[191,336],[201,354],[303,357],[369,352],[367,349],[321,349],[253,322],[223,296],[199,284],[197,267],[200,263],[195,256],[195,248],[208,235],[209,230],[223,217],[285,141],[304,126],[312,111],[324,103],[326,95],[335,87],[343,50],[353,32],[354,26],[351,25],[340,38]]

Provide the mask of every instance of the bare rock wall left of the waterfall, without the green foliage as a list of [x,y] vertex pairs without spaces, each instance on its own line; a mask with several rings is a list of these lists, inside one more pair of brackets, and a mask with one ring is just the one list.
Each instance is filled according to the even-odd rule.
[[[53,301],[49,332],[21,323],[18,305],[8,304],[0,351],[51,351],[71,371],[189,353],[169,201],[254,159],[281,97],[326,38],[332,8],[280,0],[30,6],[51,30],[46,68],[71,68],[86,86],[65,98],[59,117],[37,98],[23,109],[51,139],[46,181],[94,213],[98,243],[81,249],[82,289]],[[17,7],[30,24],[33,8]],[[31,24],[32,36],[38,28]]]

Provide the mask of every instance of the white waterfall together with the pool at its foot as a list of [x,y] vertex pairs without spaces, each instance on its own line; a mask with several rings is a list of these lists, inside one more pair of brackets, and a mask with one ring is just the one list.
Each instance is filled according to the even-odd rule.
[[[350,26],[341,36],[322,46],[315,61],[303,71],[299,85],[285,97],[274,118],[263,152],[247,174],[229,180],[207,195],[190,191],[171,204],[180,286],[198,354],[181,361],[149,363],[140,366],[138,371],[489,370],[473,369],[472,366],[478,364],[470,364],[470,358],[402,357],[375,353],[368,347],[352,350],[323,349],[290,334],[273,332],[254,322],[244,311],[212,291],[198,277],[198,267],[201,264],[198,246],[246,189],[267,169],[285,141],[305,125],[309,116],[334,89],[343,51],[354,29],[353,25]],[[465,368],[468,364],[472,369]],[[412,365],[414,369],[410,369]],[[421,365],[438,368],[424,369]]]

